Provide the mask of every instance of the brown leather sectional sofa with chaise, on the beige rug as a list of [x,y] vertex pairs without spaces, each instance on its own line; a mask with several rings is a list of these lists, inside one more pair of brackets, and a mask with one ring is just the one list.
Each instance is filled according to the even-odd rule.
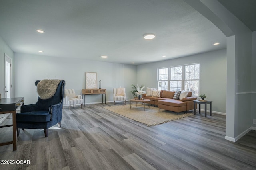
[[146,103],[158,106],[159,110],[165,109],[174,111],[177,114],[194,109],[193,100],[196,100],[197,98],[192,97],[192,92],[189,92],[188,96],[186,98],[182,98],[181,100],[173,99],[174,93],[175,91],[161,90],[160,97],[146,96],[146,94],[143,94],[143,98],[150,99],[150,102]]

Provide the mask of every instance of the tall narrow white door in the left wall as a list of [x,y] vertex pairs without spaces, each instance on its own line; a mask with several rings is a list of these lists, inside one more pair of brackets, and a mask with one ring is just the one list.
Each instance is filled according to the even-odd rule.
[[12,59],[4,54],[4,91],[5,98],[10,98],[12,96]]

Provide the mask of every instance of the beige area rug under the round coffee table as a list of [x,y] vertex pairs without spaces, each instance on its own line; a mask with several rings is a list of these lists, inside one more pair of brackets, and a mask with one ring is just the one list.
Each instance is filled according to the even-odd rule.
[[[162,123],[166,123],[169,121],[182,119],[183,117],[189,117],[194,115],[194,113],[177,113],[172,111],[167,111],[159,109],[157,107],[150,106],[150,109],[130,109],[130,104],[122,105],[122,106],[108,106],[103,107],[104,109],[107,109],[109,111],[112,111],[114,113],[117,113],[119,115],[123,115],[125,117],[128,117],[130,119],[133,119],[135,121],[144,123],[148,126],[154,126]],[[144,108],[144,107],[143,107]]]

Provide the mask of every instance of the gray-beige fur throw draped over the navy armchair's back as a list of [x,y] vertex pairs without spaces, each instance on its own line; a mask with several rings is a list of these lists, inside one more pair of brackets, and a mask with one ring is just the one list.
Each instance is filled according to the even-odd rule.
[[41,99],[50,99],[56,93],[57,87],[62,80],[49,80],[44,79],[41,80],[37,86],[36,90],[38,93],[39,98]]

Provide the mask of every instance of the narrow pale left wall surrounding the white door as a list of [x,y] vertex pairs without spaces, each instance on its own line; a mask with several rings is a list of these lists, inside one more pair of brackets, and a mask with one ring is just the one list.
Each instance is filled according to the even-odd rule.
[[[4,89],[4,53],[6,53],[11,59],[12,64],[14,63],[14,53],[12,49],[4,42],[2,37],[0,37],[0,93],[2,98],[5,95]],[[14,67],[12,67],[12,84],[14,84]],[[12,96],[14,95],[14,90],[12,89]]]

